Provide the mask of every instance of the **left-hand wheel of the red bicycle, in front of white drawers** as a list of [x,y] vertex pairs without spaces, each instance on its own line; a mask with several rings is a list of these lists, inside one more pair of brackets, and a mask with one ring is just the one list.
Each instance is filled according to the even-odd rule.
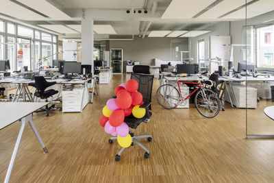
[[160,106],[165,109],[173,109],[181,99],[177,88],[171,84],[163,84],[156,91],[156,99]]

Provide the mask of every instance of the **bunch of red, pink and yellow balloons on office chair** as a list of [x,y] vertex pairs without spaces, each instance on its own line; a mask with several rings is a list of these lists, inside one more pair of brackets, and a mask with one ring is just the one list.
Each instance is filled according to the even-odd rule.
[[115,89],[116,99],[109,99],[103,107],[103,114],[99,119],[105,132],[117,136],[121,147],[129,147],[132,144],[132,136],[129,134],[129,127],[124,122],[125,117],[132,114],[136,118],[145,116],[145,108],[140,108],[144,103],[142,94],[138,91],[138,82],[134,79],[128,80]]

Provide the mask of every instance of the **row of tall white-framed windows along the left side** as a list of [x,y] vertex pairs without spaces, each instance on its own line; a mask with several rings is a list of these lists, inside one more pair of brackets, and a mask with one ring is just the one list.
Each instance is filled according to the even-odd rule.
[[[29,70],[38,69],[38,60],[48,56],[45,66],[51,66],[57,58],[53,56],[58,51],[57,40],[56,35],[0,19],[0,59],[10,60],[12,71],[20,70],[19,62]],[[23,60],[17,56],[19,50]]]

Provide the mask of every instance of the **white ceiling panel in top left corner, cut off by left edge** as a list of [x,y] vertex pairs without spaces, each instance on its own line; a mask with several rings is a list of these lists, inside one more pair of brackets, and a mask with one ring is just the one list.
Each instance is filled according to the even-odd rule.
[[24,21],[45,21],[47,18],[36,12],[32,12],[27,8],[24,8],[21,5],[18,5],[10,0],[1,0],[0,12],[2,14],[7,14],[8,16],[12,16],[16,19],[21,19]]

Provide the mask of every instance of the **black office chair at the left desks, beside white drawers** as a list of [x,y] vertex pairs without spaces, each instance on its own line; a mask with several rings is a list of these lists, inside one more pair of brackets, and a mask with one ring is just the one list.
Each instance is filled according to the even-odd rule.
[[[49,97],[52,97],[53,95],[58,93],[58,90],[46,90],[46,88],[48,88],[49,86],[53,86],[54,84],[56,84],[56,82],[47,82],[47,80],[45,80],[45,77],[43,76],[35,76],[34,80],[35,82],[30,83],[29,86],[33,86],[34,88],[36,88],[36,92],[34,93],[35,97],[45,99],[45,101],[49,101]],[[47,105],[45,109],[41,108],[36,112],[46,112],[46,117],[49,117],[49,111],[56,109],[58,108],[55,108],[55,104],[52,104],[50,107]]]

